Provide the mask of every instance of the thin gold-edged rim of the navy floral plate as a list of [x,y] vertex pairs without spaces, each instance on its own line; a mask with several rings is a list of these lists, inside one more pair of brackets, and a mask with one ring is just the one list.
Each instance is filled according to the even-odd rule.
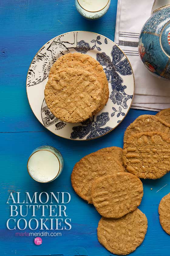
[[[87,32],[87,33],[92,33],[92,34],[96,34],[96,35],[105,37],[105,36],[102,35],[102,34],[99,34],[99,33],[96,33],[96,32],[91,32],[91,31],[85,31],[85,30],[74,30],[74,31],[70,31],[70,32],[66,32],[66,33],[60,34],[60,35],[58,35],[58,36],[56,36],[56,37],[60,37],[60,36],[62,36],[62,35],[64,35],[64,34],[76,33],[76,32]],[[42,46],[41,48],[39,48],[38,52],[39,52],[46,44],[48,44],[51,40],[54,40],[56,37],[51,38],[48,42],[46,42],[45,44],[43,44],[43,46]],[[116,45],[116,46],[121,50],[121,52],[123,52],[124,56],[126,57],[126,59],[127,59],[128,62],[129,62],[129,65],[131,66],[131,62],[130,62],[129,59],[127,58],[127,56],[126,56],[126,54],[124,53],[124,51],[123,51],[114,41],[112,41],[110,38],[108,38],[108,37],[105,37],[105,38],[108,39],[109,41],[111,41],[112,43],[114,43],[114,45]],[[34,55],[33,59],[36,57],[36,55],[38,54],[38,52]],[[33,59],[32,59],[32,61],[33,61]],[[32,64],[32,61],[31,61],[30,65],[29,65],[28,72],[29,72],[30,66],[31,66],[31,64]],[[134,72],[133,72],[132,66],[131,66],[131,70],[132,70],[133,81],[134,81],[133,97],[132,97],[131,104],[130,104],[128,110],[127,110],[127,113],[126,113],[126,115],[123,117],[123,119],[121,120],[121,122],[122,122],[122,121],[124,120],[124,118],[127,116],[128,112],[129,112],[129,110],[130,110],[130,108],[131,108],[131,105],[132,105],[132,103],[133,103],[133,99],[134,99],[135,80],[134,80]],[[27,72],[27,76],[26,76],[26,94],[27,94],[27,99],[28,99],[28,103],[29,103],[29,98],[28,98],[28,93],[27,93],[27,77],[28,77],[28,72]],[[30,106],[30,108],[31,108],[30,103],[29,103],[29,106]],[[31,110],[32,110],[32,108],[31,108]],[[33,112],[33,110],[32,110],[32,112]],[[33,114],[34,114],[34,116],[36,117],[36,115],[35,115],[34,112],[33,112]],[[95,138],[90,138],[90,139],[79,139],[79,140],[76,140],[76,139],[66,138],[66,137],[63,137],[63,136],[60,136],[60,135],[54,133],[53,131],[51,131],[51,130],[49,130],[47,127],[45,127],[45,126],[40,122],[40,120],[38,119],[38,117],[36,117],[36,119],[37,119],[37,120],[39,121],[39,123],[40,123],[44,128],[46,128],[46,130],[48,130],[49,132],[55,134],[56,136],[59,136],[59,137],[61,137],[61,138],[64,138],[64,139],[66,139],[66,140],[73,140],[73,141],[86,141],[86,140],[95,140],[95,139],[98,139],[98,138],[103,137],[104,135],[110,133],[111,131],[113,131],[113,130],[114,130],[115,128],[117,128],[117,126],[121,123],[121,122],[118,123],[113,129],[111,129],[111,130],[108,131],[107,133],[104,133],[104,134],[101,135],[101,136],[98,136],[98,137],[95,137]]]

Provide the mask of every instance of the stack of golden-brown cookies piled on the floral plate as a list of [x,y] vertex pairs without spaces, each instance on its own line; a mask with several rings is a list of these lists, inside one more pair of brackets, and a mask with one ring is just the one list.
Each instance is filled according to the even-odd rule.
[[54,116],[68,123],[79,123],[106,105],[109,89],[97,60],[81,53],[68,53],[51,67],[44,94]]

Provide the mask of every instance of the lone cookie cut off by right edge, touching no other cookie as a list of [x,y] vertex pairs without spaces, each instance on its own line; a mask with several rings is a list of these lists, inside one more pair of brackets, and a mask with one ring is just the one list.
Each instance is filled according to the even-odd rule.
[[162,228],[170,235],[170,193],[161,199],[158,212]]

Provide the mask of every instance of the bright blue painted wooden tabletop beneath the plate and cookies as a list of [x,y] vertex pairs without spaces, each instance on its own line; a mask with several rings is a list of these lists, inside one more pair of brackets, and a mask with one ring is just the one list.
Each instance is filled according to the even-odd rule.
[[[131,109],[124,121],[109,134],[91,141],[70,141],[50,133],[37,121],[27,101],[25,81],[33,56],[43,44],[57,35],[87,30],[114,40],[116,10],[117,1],[112,0],[103,18],[88,21],[79,15],[74,0],[0,1],[0,255],[113,255],[97,240],[96,228],[100,215],[93,205],[75,194],[70,174],[74,164],[84,155],[104,147],[122,147],[126,127],[139,115],[155,112]],[[65,165],[61,176],[54,182],[39,184],[29,177],[26,163],[33,149],[46,144],[61,151]],[[148,231],[134,256],[169,255],[170,236],[162,230],[158,218],[158,204],[170,190],[169,180],[169,175],[159,180],[143,180],[144,197],[139,208],[148,218]],[[25,192],[69,192],[71,201],[67,205],[67,215],[71,218],[72,229],[61,230],[62,236],[42,237],[40,246],[34,244],[32,236],[16,237],[15,232],[18,231],[6,227],[6,221],[10,218],[9,204],[6,202],[11,191],[14,196],[16,192],[21,192],[22,197]],[[25,217],[27,220],[30,218],[30,214]],[[43,217],[37,213],[36,218]],[[24,231],[30,232],[30,229]]]

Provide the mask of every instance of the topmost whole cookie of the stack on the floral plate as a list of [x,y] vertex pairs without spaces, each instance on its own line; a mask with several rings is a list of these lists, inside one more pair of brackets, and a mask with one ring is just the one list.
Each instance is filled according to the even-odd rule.
[[61,69],[50,77],[44,91],[53,115],[69,123],[79,123],[92,116],[100,104],[101,93],[95,76],[73,68]]

